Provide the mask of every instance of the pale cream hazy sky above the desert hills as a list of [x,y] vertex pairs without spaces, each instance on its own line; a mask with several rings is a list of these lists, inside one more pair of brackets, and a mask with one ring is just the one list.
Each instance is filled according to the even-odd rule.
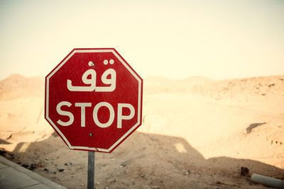
[[114,47],[145,78],[284,74],[284,1],[0,1],[0,79]]

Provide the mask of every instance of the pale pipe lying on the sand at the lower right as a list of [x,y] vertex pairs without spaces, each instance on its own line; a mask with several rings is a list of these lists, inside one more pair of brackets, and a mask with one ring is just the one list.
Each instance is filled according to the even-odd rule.
[[253,173],[253,175],[251,176],[251,181],[253,181],[253,183],[260,183],[262,185],[272,188],[284,189],[284,181],[281,181],[280,179],[277,178],[261,176]]

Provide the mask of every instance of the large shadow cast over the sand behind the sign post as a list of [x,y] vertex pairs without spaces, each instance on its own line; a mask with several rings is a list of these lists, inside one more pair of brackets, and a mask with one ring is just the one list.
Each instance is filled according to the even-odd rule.
[[[12,161],[36,165],[36,173],[67,188],[86,188],[87,152],[68,149],[60,137],[20,143],[12,154]],[[283,169],[250,159],[204,159],[185,139],[136,131],[111,154],[96,153],[96,188],[261,188],[241,176],[241,166],[250,173],[284,175]]]

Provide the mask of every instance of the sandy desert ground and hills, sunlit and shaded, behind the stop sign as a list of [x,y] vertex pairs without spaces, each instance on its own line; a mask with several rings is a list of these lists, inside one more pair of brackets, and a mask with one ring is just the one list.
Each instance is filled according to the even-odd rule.
[[[143,91],[143,125],[111,154],[96,153],[96,188],[266,188],[249,175],[284,177],[284,76],[151,76]],[[87,188],[87,151],[68,149],[43,105],[43,78],[0,81],[1,156]]]

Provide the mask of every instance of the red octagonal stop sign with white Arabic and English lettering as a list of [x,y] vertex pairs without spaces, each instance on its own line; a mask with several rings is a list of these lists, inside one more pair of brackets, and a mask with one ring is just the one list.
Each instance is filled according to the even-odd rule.
[[70,149],[111,152],[141,125],[142,86],[113,48],[74,49],[45,77],[45,119]]

